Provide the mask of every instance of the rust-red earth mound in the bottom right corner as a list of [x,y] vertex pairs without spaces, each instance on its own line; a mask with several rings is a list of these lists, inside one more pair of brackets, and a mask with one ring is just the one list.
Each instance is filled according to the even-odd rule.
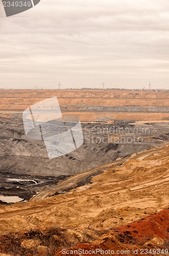
[[[136,255],[168,255],[168,216],[169,210],[164,209],[157,215],[145,217],[140,221],[111,231],[108,230],[98,240],[85,244],[80,243],[73,248],[67,248],[67,251],[102,249],[102,253],[98,252],[98,255],[102,255],[104,252],[106,254],[108,250],[110,255],[134,254],[133,251]],[[91,255],[94,254],[95,252],[91,253]],[[62,250],[59,249],[55,255],[63,255]]]

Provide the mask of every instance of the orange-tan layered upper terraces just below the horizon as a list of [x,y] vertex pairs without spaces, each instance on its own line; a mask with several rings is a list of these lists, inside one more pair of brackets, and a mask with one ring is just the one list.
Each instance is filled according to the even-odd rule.
[[168,92],[118,90],[1,89],[0,116],[21,117],[30,105],[55,96],[65,115],[74,114],[81,121],[169,120]]

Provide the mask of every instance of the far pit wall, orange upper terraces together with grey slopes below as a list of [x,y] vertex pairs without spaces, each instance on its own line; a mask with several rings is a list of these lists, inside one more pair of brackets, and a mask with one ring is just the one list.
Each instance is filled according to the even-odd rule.
[[[43,141],[25,137],[21,116],[30,105],[54,96],[58,97],[63,115],[80,118],[84,143],[70,154],[49,160]],[[18,176],[73,175],[133,152],[161,146],[168,140],[169,94],[165,92],[0,90],[0,98],[2,172],[15,172]],[[116,132],[120,129],[123,133]],[[132,143],[121,141],[128,137]],[[139,139],[143,139],[142,143]]]

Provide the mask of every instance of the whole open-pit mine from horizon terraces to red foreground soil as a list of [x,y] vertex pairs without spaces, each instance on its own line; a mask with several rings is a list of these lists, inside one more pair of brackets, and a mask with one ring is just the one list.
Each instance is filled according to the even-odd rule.
[[[83,133],[53,159],[22,120],[51,97]],[[1,89],[0,98],[0,255],[168,255],[168,92]]]

